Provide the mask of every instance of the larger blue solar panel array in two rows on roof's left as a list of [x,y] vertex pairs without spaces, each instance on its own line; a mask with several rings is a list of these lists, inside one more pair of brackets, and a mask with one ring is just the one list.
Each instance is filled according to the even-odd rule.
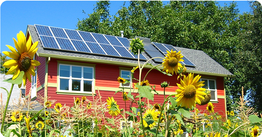
[[[51,26],[35,25],[44,48],[138,58],[131,53],[127,38]],[[140,54],[140,59],[147,59]]]

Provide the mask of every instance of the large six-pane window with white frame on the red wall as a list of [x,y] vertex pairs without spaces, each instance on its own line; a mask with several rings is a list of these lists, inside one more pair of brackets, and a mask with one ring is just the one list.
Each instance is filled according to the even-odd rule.
[[94,68],[59,64],[59,90],[92,92]]

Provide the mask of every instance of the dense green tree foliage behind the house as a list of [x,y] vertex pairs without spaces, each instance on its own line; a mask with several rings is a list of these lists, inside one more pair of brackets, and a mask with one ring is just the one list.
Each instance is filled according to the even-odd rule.
[[[236,76],[226,81],[227,106],[231,109],[239,101],[241,86],[253,103],[262,98],[260,3],[251,3],[253,14],[240,15],[235,2],[221,7],[216,1],[170,1],[167,5],[162,1],[130,1],[129,7],[124,2],[111,16],[110,3],[98,1],[94,12],[76,26],[78,30],[114,36],[120,36],[123,30],[127,38],[147,37],[204,51]],[[260,80],[254,80],[258,76]],[[254,107],[262,111],[262,107]]]

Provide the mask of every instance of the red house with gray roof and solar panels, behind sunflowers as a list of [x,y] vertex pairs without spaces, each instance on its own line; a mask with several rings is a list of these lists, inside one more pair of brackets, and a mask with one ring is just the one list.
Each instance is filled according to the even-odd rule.
[[[138,65],[137,56],[128,51],[127,38],[41,25],[28,25],[26,37],[28,38],[29,35],[33,43],[39,41],[37,46],[39,49],[34,58],[41,65],[35,69],[37,75],[32,76],[32,83],[27,82],[26,95],[31,89],[32,99],[37,100],[36,95],[44,96],[46,89],[47,96],[51,97],[51,100],[73,105],[73,97],[86,96],[87,99],[92,100],[92,93],[97,95],[99,89],[102,101],[113,96],[120,108],[124,108],[122,93],[114,95],[115,91],[122,87],[117,78],[120,76],[129,79],[130,70]],[[203,51],[154,43],[146,38],[140,39],[144,39],[146,49],[140,55],[140,64],[150,58],[164,57],[166,50],[181,51],[184,55],[182,64],[186,65],[187,73],[192,72],[195,76],[202,76],[201,80],[204,80],[205,85],[211,90],[211,102],[215,106],[215,112],[225,114],[224,78],[234,77],[232,73]],[[149,63],[159,65],[162,59],[153,59]],[[142,78],[150,68],[152,68],[150,65],[145,67]],[[158,68],[163,69],[161,65]],[[138,75],[139,72],[135,71],[134,77],[138,78]],[[178,89],[176,83],[180,83],[177,76],[167,76],[158,70],[152,70],[146,79],[150,85],[155,85],[155,90],[160,93],[159,96],[154,95],[154,102],[150,100],[151,104],[163,103],[163,88],[160,87],[163,81],[173,86],[166,88],[166,94],[174,93]],[[133,83],[137,81],[133,80]],[[133,91],[133,84],[124,86],[127,92],[130,86]],[[134,92],[136,93],[137,90]],[[206,105],[196,107],[201,110],[206,109]]]

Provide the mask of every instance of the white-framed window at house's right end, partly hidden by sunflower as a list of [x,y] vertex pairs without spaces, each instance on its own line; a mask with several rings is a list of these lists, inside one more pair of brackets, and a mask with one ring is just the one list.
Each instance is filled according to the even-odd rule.
[[211,101],[217,101],[217,87],[216,87],[216,80],[214,79],[200,79],[200,81],[205,81],[203,84],[205,86],[203,88],[206,88],[210,90],[211,94]]

